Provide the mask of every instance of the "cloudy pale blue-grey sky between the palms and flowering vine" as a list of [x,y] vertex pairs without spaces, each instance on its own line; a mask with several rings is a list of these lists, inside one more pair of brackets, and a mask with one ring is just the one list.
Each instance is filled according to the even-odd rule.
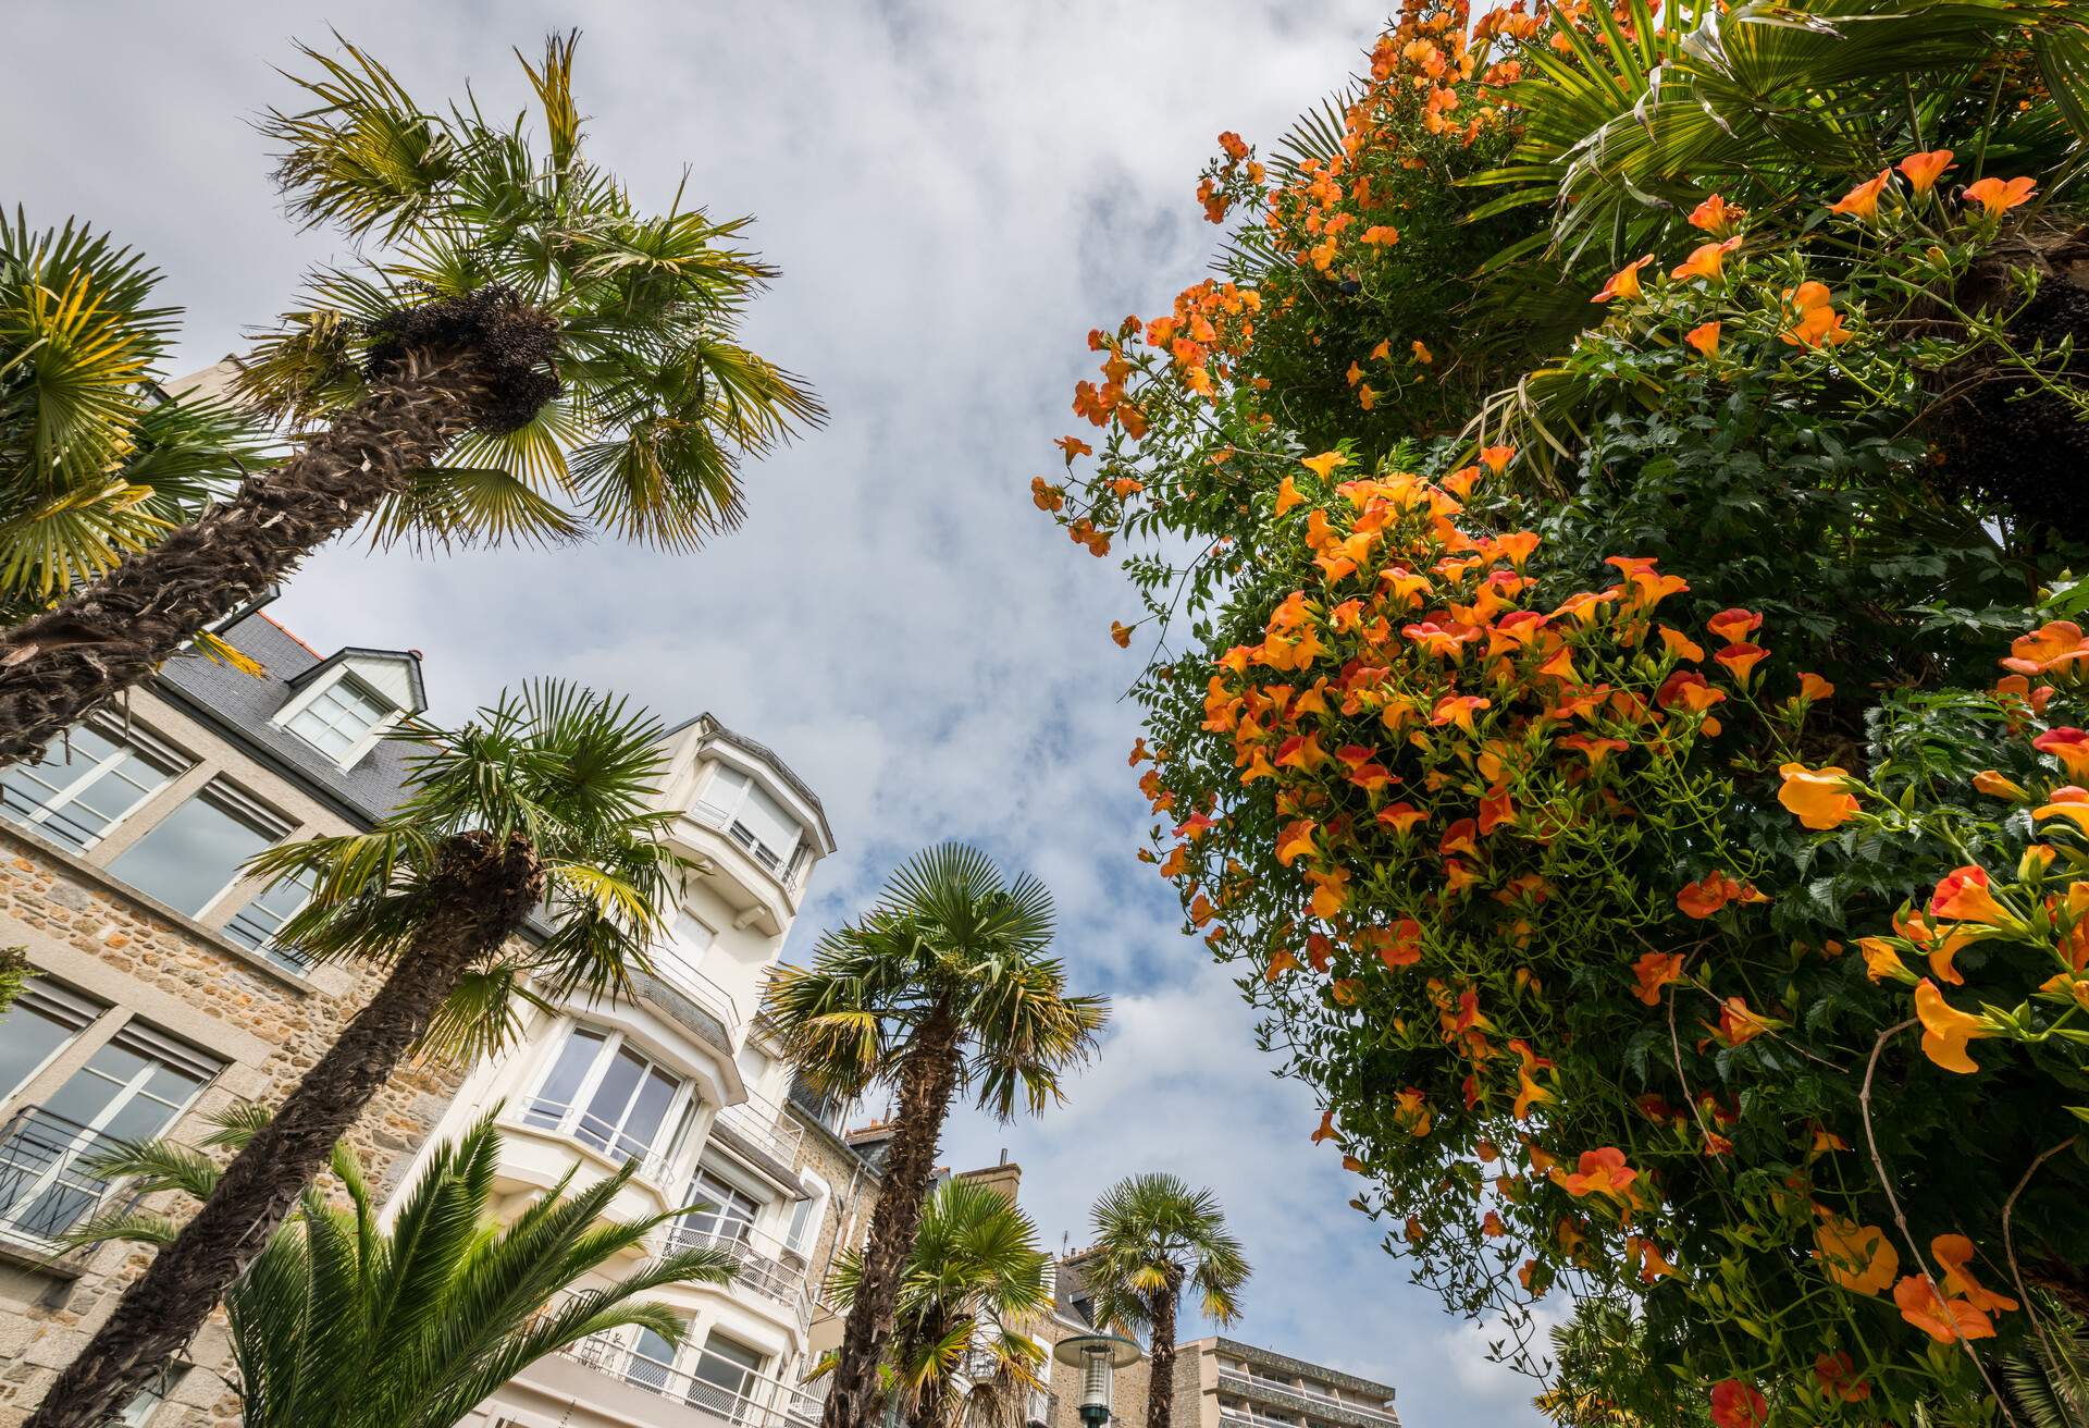
[[[1065,1106],[1001,1127],[961,1112],[957,1169],[1003,1150],[1051,1244],[1086,1240],[1109,1181],[1210,1185],[1255,1277],[1237,1338],[1398,1388],[1408,1428],[1535,1424],[1533,1384],[1485,1361],[1347,1206],[1247,1008],[1132,853],[1147,811],[1126,751],[1134,608],[1113,560],[1030,504],[1076,431],[1084,335],[1164,309],[1218,230],[1193,201],[1220,130],[1274,140],[1352,73],[1383,0],[13,0],[0,203],[144,249],[186,307],[171,374],[236,351],[299,274],[299,232],[249,121],[295,94],[276,67],[330,27],[426,105],[472,84],[524,102],[508,52],[583,29],[589,148],[664,207],[683,171],[717,217],[754,213],[783,276],[756,351],[831,420],[746,470],[746,527],[696,556],[614,544],[443,560],[345,542],[276,615],[313,646],[418,648],[439,719],[562,675],[668,721],[710,711],[821,794],[840,851],[790,955],[915,849],[963,838],[1044,878],[1078,991],[1116,999]],[[1197,1330],[1187,1330],[1197,1332]]]

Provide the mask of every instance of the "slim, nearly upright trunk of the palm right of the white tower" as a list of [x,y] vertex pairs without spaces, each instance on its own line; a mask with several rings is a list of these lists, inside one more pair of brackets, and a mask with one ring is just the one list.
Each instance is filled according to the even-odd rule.
[[900,1129],[886,1152],[871,1238],[863,1248],[863,1275],[842,1330],[842,1355],[821,1409],[821,1428],[871,1428],[877,1413],[877,1363],[892,1338],[900,1269],[921,1225],[921,1200],[928,1196],[936,1144],[957,1087],[957,1014],[944,997],[921,1024],[915,1052],[900,1070]]

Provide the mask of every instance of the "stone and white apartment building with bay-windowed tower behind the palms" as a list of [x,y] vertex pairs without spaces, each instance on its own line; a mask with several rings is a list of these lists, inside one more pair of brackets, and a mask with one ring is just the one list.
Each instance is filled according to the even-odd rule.
[[[320,654],[265,615],[221,631],[253,677],[171,661],[121,711],[40,763],[0,769],[0,945],[29,991],[0,1018],[0,1424],[19,1422],[142,1263],[123,1246],[54,1254],[54,1238],[125,1198],[88,1165],[117,1139],[194,1139],[234,1100],[274,1102],[374,989],[276,943],[303,891],[238,874],[284,838],[366,828],[403,788],[384,732],[426,707],[414,650]],[[480,1411],[512,1428],[804,1428],[798,1386],[838,1338],[819,1286],[861,1240],[882,1133],[792,1083],[758,1018],[834,838],[819,799],[762,744],[710,717],[666,740],[673,838],[702,872],[668,909],[656,976],[629,1001],[541,1012],[470,1068],[414,1064],[351,1139],[382,1192],[499,1106],[499,1194],[520,1206],[568,1169],[637,1162],[620,1213],[702,1202],[654,1248],[710,1244],[725,1288],[660,1292],[689,1321],[577,1346]],[[236,1422],[221,1330],[127,1409],[127,1424]]]

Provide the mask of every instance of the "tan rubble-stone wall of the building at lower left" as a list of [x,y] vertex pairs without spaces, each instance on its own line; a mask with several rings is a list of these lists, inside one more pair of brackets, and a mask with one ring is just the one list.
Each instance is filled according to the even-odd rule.
[[[21,943],[31,966],[109,1010],[86,1027],[0,1116],[38,1104],[130,1018],[217,1058],[224,1073],[173,1125],[196,1139],[232,1100],[280,1102],[326,1052],[376,987],[355,968],[276,970],[221,932],[123,889],[94,863],[0,824],[0,945]],[[460,1075],[418,1064],[401,1070],[355,1127],[351,1142],[389,1190],[447,1106]],[[0,1087],[6,1089],[6,1087]],[[180,1213],[169,1196],[165,1206]],[[71,1361],[113,1307],[144,1254],[107,1246],[40,1265],[33,1252],[0,1263],[0,1426],[19,1424],[52,1374]],[[192,1344],[194,1367],[173,1386],[152,1428],[232,1428],[228,1355],[213,1321]]]

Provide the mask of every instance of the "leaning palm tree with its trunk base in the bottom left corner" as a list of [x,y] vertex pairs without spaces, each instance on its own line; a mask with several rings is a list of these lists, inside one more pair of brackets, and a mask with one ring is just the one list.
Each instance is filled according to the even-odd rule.
[[[370,832],[269,849],[311,901],[282,926],[315,960],[384,985],[232,1158],[203,1208],[125,1290],[44,1395],[31,1428],[86,1428],[188,1342],[407,1052],[499,1043],[518,997],[610,995],[648,966],[683,870],[652,811],[660,723],[623,700],[535,684],[462,730],[409,730],[405,801]],[[543,907],[551,926],[516,939]],[[531,978],[541,991],[524,991]]]

